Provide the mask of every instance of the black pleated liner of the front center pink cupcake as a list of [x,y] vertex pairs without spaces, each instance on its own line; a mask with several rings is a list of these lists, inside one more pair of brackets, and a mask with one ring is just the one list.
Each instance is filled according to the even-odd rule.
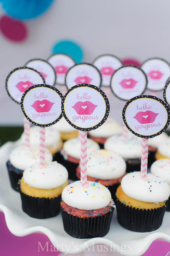
[[113,212],[114,208],[105,215],[83,219],[68,214],[61,208],[64,230],[75,238],[103,237],[109,232]]

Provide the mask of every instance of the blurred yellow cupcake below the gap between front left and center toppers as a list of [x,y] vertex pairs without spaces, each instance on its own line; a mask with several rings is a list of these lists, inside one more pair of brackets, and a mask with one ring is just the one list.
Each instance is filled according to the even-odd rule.
[[63,141],[78,137],[78,130],[72,127],[64,117],[62,117],[56,124],[53,125],[53,129],[60,133],[61,139]]

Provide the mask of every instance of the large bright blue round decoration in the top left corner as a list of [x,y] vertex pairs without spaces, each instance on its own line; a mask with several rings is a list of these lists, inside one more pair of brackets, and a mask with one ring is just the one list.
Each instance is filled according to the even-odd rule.
[[9,16],[19,20],[36,18],[45,12],[54,0],[0,0]]

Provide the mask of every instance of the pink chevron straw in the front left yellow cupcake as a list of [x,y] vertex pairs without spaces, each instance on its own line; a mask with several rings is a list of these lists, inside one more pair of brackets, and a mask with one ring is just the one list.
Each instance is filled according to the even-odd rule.
[[46,152],[46,129],[39,128],[39,165],[41,168],[45,166],[45,152]]

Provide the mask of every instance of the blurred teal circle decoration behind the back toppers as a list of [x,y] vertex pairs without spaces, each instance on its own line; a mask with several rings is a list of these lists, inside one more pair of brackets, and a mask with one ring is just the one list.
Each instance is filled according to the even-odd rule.
[[81,62],[83,59],[83,50],[81,47],[77,43],[69,40],[59,41],[56,43],[52,53],[65,53],[70,55],[76,63]]

